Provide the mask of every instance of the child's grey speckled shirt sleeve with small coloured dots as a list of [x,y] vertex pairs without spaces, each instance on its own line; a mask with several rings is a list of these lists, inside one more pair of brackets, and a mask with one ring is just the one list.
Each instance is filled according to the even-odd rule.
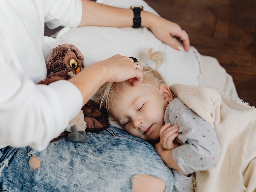
[[183,145],[172,150],[172,156],[186,174],[212,168],[219,159],[221,147],[211,124],[188,108],[179,98],[165,110],[165,123],[179,126]]

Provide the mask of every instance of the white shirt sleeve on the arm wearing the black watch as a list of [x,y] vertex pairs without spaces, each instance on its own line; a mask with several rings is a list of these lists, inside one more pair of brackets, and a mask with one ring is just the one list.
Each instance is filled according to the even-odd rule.
[[48,28],[77,27],[82,19],[81,0],[45,0],[44,22]]

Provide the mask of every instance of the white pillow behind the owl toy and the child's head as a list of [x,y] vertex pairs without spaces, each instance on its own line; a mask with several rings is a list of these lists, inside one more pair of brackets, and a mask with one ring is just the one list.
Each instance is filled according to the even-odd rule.
[[[143,0],[98,0],[98,3],[129,8],[143,5],[144,10],[157,14]],[[158,14],[157,14],[158,15]],[[84,54],[84,64],[105,60],[115,54],[135,57],[145,65],[149,48],[166,54],[166,62],[158,69],[168,86],[176,83],[199,85],[199,63],[194,49],[176,51],[158,40],[147,28],[79,27],[63,28],[56,39],[45,37],[44,56],[48,57],[53,47],[59,44],[74,44]],[[154,66],[152,66],[154,67]]]

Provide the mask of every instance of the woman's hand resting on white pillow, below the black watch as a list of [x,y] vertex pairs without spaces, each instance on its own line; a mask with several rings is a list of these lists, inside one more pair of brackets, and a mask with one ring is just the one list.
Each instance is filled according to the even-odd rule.
[[182,49],[180,43],[172,38],[178,37],[183,43],[185,51],[189,50],[190,41],[188,34],[177,23],[149,12],[142,11],[141,15],[141,17],[143,17],[143,19],[141,19],[141,25],[148,27],[159,40],[180,51]]

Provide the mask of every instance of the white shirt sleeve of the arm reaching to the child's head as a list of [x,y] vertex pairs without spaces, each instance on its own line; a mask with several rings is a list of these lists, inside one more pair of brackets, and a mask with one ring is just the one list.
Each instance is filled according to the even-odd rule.
[[43,150],[79,113],[81,92],[64,80],[35,84],[14,67],[19,61],[8,46],[0,44],[0,146]]

